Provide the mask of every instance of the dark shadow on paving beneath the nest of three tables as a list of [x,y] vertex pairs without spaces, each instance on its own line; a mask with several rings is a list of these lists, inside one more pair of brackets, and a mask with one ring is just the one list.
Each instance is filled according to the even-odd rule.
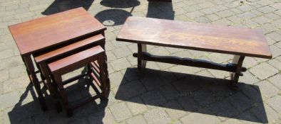
[[[76,81],[76,84],[72,84],[66,88],[70,105],[84,101],[95,94],[93,90],[91,92],[90,87],[92,85],[90,82],[88,78],[83,78]],[[46,89],[43,88],[43,91],[44,96],[46,96],[48,111],[44,112],[41,110],[34,88],[29,84],[26,87],[26,91],[21,95],[19,102],[8,112],[10,123],[87,123],[85,122],[87,120],[93,120],[95,123],[103,123],[102,120],[108,100],[101,101],[100,99],[96,99],[95,101],[86,103],[74,109],[73,116],[68,118],[64,109],[60,113],[56,111],[51,96],[46,92]],[[30,94],[34,101],[23,103]]]

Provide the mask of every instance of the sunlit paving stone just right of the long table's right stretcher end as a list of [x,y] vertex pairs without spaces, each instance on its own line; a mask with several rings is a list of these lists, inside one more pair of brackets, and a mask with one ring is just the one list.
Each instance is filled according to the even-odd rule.
[[266,79],[267,77],[271,77],[272,75],[278,73],[277,69],[266,62],[252,67],[249,71],[259,79]]

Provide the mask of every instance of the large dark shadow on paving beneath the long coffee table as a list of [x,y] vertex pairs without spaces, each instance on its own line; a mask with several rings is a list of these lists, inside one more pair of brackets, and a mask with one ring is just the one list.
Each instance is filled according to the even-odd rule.
[[[128,68],[116,91],[121,101],[181,111],[267,123],[259,86],[241,83],[237,91],[229,80],[175,72]],[[141,101],[136,99],[141,98]]]

